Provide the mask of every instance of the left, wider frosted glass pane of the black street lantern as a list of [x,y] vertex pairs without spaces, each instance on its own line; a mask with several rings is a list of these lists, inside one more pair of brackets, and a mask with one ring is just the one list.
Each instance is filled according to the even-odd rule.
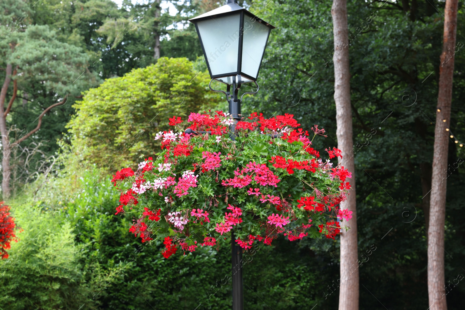
[[237,14],[197,23],[212,75],[238,71],[239,22]]

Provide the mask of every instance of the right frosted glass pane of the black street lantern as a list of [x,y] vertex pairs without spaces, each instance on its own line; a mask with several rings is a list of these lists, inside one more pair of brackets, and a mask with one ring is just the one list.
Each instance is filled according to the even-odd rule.
[[270,28],[248,15],[244,16],[244,40],[242,44],[242,72],[257,78],[266,39]]

